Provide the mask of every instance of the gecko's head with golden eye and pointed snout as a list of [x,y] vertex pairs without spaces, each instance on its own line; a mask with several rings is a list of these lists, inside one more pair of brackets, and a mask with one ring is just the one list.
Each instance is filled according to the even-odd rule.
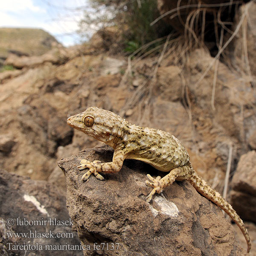
[[113,140],[113,128],[123,120],[111,111],[96,107],[87,108],[86,111],[67,119],[67,124],[84,132],[87,135],[108,143]]

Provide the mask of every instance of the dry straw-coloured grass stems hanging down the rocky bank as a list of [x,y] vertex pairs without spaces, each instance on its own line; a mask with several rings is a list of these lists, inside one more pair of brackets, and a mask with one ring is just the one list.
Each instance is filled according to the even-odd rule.
[[[166,15],[172,14],[171,18],[179,17],[180,10],[186,9],[186,8],[192,9],[191,12],[187,15],[185,23],[183,23],[180,16],[180,22],[183,23],[183,26],[185,28],[184,35],[177,36],[177,34],[170,34],[168,37],[159,38],[155,41],[152,41],[151,43],[145,44],[143,47],[140,47],[140,49],[137,49],[136,52],[134,52],[128,57],[128,67],[125,72],[125,75],[122,77],[120,86],[124,86],[125,83],[132,81],[133,71],[136,72],[137,65],[139,65],[140,61],[146,57],[147,58],[151,57],[155,59],[154,72],[152,72],[152,75],[150,77],[144,80],[143,84],[140,84],[140,86],[137,87],[137,90],[135,90],[134,95],[130,99],[128,99],[128,101],[126,102],[121,112],[125,113],[127,109],[134,108],[135,106],[137,106],[139,109],[137,123],[142,124],[143,122],[148,122],[148,120],[150,120],[150,116],[153,111],[152,105],[154,102],[154,95],[152,92],[154,91],[153,89],[156,85],[158,67],[161,65],[161,63],[176,65],[182,70],[182,72],[180,73],[180,77],[182,81],[182,103],[188,113],[188,125],[192,126],[192,131],[194,131],[194,134],[195,134],[195,127],[192,122],[193,121],[192,104],[190,102],[189,95],[188,95],[188,84],[190,81],[190,74],[188,73],[188,70],[186,69],[186,67],[188,66],[187,63],[190,62],[190,52],[192,52],[193,49],[202,47],[209,52],[205,44],[205,35],[206,35],[205,29],[207,27],[207,22],[209,22],[209,20],[206,20],[206,14],[207,12],[211,12],[211,11],[214,17],[213,23],[214,23],[214,31],[215,31],[215,38],[216,38],[215,44],[218,48],[218,51],[215,57],[207,66],[207,68],[205,70],[202,70],[202,74],[198,79],[198,81],[196,81],[196,84],[194,84],[194,86],[199,84],[205,78],[205,76],[209,73],[210,70],[211,72],[212,70],[214,70],[212,85],[209,84],[209,86],[212,86],[211,107],[214,113],[216,84],[217,83],[222,84],[221,81],[218,81],[219,62],[222,61],[228,65],[230,70],[234,70],[238,75],[241,75],[242,77],[247,76],[247,78],[249,77],[253,85],[254,92],[256,93],[256,83],[250,70],[250,62],[249,62],[248,51],[247,51],[247,25],[249,22],[248,8],[250,8],[250,6],[248,4],[241,6],[240,8],[241,14],[239,19],[237,19],[236,27],[233,26],[234,28],[233,30],[232,30],[232,26],[230,26],[231,25],[230,22],[224,22],[221,20],[221,11],[222,11],[221,7],[229,6],[231,10],[231,4],[238,5],[239,3],[241,2],[230,1],[230,3],[224,3],[224,4],[209,4],[209,5],[205,5],[205,4],[193,5],[192,4],[192,5],[186,5],[186,6],[177,6],[177,8],[170,10],[169,12],[166,12],[165,14],[161,15],[156,20],[154,20],[154,22],[151,23],[152,25],[156,23],[158,20],[165,17]],[[216,7],[220,7],[217,12],[215,9]],[[236,6],[236,9],[238,11],[237,6]],[[228,47],[230,46],[230,44],[233,43],[234,39],[236,38],[239,32],[242,32],[242,53],[240,58],[236,60],[236,63],[241,63],[241,66],[238,69],[237,67],[233,66],[233,63],[231,63],[228,57]],[[156,41],[160,42],[160,45],[155,47],[154,49],[150,49],[147,51],[148,47],[151,44],[154,44]],[[159,53],[157,53],[156,55],[156,52],[159,52]],[[232,91],[232,88],[230,88],[230,91]],[[232,92],[230,93],[230,95],[232,97]],[[241,116],[241,124],[242,124],[241,134],[244,134],[244,127],[243,127],[244,105],[241,102],[235,102],[236,101],[235,96],[233,97],[233,99],[234,99],[234,104],[239,104],[240,106],[240,110],[241,110],[240,116]],[[232,102],[233,99],[230,99],[230,101]],[[244,102],[246,102],[246,99]],[[255,109],[255,106],[251,105],[251,107]],[[196,145],[195,135],[192,136],[192,140]],[[198,148],[198,147],[196,146],[195,148]],[[198,152],[196,155],[198,157],[198,160],[201,161]],[[218,188],[224,187],[224,190],[227,191],[228,189],[227,181],[230,176],[228,174],[228,171],[230,171],[231,159],[232,159],[231,156],[229,156],[226,181],[225,182],[220,181],[218,179],[218,173],[216,172],[215,178],[212,180],[213,182],[212,185],[214,187],[216,186],[218,186]]]

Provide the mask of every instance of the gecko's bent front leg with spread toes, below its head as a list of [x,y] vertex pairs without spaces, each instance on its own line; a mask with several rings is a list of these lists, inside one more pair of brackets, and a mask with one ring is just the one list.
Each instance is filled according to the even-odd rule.
[[122,154],[122,151],[114,151],[112,162],[101,163],[101,161],[99,160],[90,162],[88,160],[82,159],[80,161],[81,165],[77,166],[77,168],[79,170],[84,170],[86,168],[89,168],[89,171],[82,176],[81,178],[82,180],[87,180],[92,173],[95,175],[97,179],[104,180],[104,177],[100,175],[99,172],[105,172],[105,173],[119,172],[120,169],[122,168],[123,161],[124,161],[124,155]]

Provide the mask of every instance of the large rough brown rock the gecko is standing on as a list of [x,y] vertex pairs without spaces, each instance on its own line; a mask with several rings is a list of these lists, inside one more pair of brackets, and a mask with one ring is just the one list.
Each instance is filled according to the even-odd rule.
[[81,180],[84,172],[76,168],[81,159],[108,162],[112,155],[103,145],[58,162],[66,175],[74,230],[82,244],[98,246],[84,255],[246,255],[221,210],[187,181],[175,182],[148,204],[145,177],[157,173],[140,161],[125,160],[119,173],[103,174],[103,181],[93,175]]

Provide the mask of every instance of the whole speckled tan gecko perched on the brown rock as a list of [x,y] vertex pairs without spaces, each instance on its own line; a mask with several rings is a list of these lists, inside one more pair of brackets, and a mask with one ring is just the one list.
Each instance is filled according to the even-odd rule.
[[149,180],[145,181],[146,186],[152,188],[146,197],[147,202],[151,201],[155,193],[163,192],[163,189],[175,180],[188,180],[201,195],[223,209],[235,221],[244,234],[247,252],[250,251],[250,236],[243,221],[233,207],[195,172],[186,148],[175,136],[166,131],[131,125],[117,114],[96,107],[70,116],[67,124],[114,149],[113,160],[109,163],[82,159],[77,168],[89,169],[82,175],[82,180],[87,180],[91,174],[103,180],[104,177],[99,172],[119,172],[125,159],[141,160],[157,170],[169,172],[162,178],[146,175]]

